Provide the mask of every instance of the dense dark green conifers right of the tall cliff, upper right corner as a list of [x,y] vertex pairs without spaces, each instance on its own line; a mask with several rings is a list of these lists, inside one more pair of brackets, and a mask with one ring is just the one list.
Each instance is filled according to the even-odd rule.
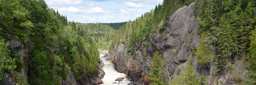
[[[200,20],[199,32],[217,38],[211,43],[218,48],[223,65],[230,59],[245,57],[249,36],[255,28],[254,0],[196,0],[194,12]],[[240,56],[240,57],[239,57]]]

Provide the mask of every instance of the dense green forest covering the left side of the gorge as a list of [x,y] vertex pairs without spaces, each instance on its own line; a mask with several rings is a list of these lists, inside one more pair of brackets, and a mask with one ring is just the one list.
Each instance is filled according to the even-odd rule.
[[[7,84],[3,75],[9,73],[18,85],[60,85],[60,77],[67,77],[65,67],[76,80],[98,73],[94,36],[101,39],[102,34],[85,30],[85,24],[68,22],[44,0],[1,0],[0,11],[1,84]],[[110,30],[104,25],[99,32]]]

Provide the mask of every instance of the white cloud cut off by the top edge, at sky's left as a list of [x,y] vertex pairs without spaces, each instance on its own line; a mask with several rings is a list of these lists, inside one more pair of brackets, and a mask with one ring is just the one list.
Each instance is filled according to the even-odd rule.
[[45,0],[45,2],[47,3],[47,5],[51,6],[74,6],[83,4],[82,0]]

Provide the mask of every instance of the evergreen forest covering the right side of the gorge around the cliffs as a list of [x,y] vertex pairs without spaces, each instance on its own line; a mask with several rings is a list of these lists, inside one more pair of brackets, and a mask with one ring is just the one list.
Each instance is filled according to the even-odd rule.
[[[236,84],[256,84],[255,0],[164,0],[162,4],[156,5],[155,9],[144,13],[141,17],[137,17],[119,28],[114,34],[114,39],[110,41],[109,50],[113,50],[114,53],[117,45],[122,46],[121,44],[124,44],[128,48],[125,50],[126,54],[124,56],[136,59],[135,57],[138,57],[137,50],[148,50],[152,33],[157,35],[157,31],[161,30],[162,37],[167,40],[165,29],[168,26],[169,16],[178,8],[189,6],[192,2],[195,3],[195,6],[191,9],[200,23],[197,34],[201,37],[199,47],[191,47],[189,42],[185,45],[187,50],[191,50],[192,57],[195,58],[196,56],[201,65],[217,64],[218,74],[225,73],[224,71],[226,70],[235,71],[234,63],[243,61],[242,66],[248,69],[247,72],[250,77],[243,78],[244,75],[239,73],[235,74],[234,79],[231,80]],[[161,21],[163,21],[163,25],[158,27]],[[183,41],[192,38],[193,36],[186,35]],[[137,45],[137,43],[142,43],[142,45]],[[177,48],[173,50],[175,54],[178,52]],[[169,79],[166,77],[167,74],[162,73],[161,70],[166,67],[163,65],[163,63],[167,62],[164,56],[163,53],[156,52],[154,57],[151,58],[150,85],[207,84],[205,74],[195,74],[193,69],[193,63],[195,62],[192,61],[191,57],[188,59],[189,64],[184,68],[182,75],[177,76],[178,74],[174,74],[175,76]],[[146,58],[147,56],[144,54],[143,60]],[[161,59],[159,60],[159,58]],[[176,69],[179,70],[178,72],[181,70],[178,67]],[[223,81],[220,81],[220,83],[218,81],[220,76],[217,75],[216,77],[216,84],[223,83]],[[166,80],[166,78],[169,80]]]

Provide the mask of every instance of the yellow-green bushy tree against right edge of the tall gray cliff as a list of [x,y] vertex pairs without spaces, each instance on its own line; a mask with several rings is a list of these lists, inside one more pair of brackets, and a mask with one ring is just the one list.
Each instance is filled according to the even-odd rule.
[[207,64],[209,62],[212,62],[211,49],[203,42],[205,40],[205,37],[206,32],[201,35],[200,45],[197,47],[196,50],[197,60],[201,64]]

